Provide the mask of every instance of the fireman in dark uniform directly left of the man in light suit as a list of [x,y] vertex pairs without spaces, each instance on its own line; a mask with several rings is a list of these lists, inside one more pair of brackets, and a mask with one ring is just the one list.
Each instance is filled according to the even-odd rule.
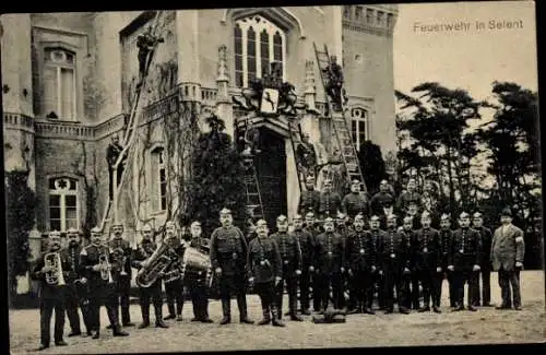
[[[482,213],[476,212],[473,216],[473,228],[479,233],[482,239],[482,264],[479,272],[477,273],[477,280],[475,281],[474,288],[474,304],[473,306],[479,307],[492,307],[491,305],[491,240],[492,233],[491,229],[484,227],[484,218]],[[482,299],[479,293],[479,275],[482,274]],[[480,301],[482,300],[482,301]]]

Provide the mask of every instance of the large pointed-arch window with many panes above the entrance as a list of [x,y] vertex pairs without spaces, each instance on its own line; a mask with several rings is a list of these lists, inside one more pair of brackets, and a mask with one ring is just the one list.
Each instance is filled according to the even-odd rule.
[[270,21],[252,15],[236,21],[235,37],[235,83],[248,86],[256,78],[262,78],[270,70],[272,61],[281,62],[285,80],[286,35]]

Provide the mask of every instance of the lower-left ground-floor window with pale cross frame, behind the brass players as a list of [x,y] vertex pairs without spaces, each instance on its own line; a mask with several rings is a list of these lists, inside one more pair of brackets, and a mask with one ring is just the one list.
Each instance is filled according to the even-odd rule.
[[49,179],[49,229],[80,228],[78,180],[68,177]]

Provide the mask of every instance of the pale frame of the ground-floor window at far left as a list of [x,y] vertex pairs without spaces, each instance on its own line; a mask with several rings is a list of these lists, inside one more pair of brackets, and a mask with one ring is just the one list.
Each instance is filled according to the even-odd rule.
[[[50,189],[49,188],[49,184],[51,180],[60,180],[60,179],[67,179],[69,180],[69,184],[70,181],[73,181],[75,184],[75,188],[74,190],[70,190],[70,189]],[[47,226],[48,226],[48,229],[49,230],[54,230],[52,227],[51,227],[51,197],[52,196],[58,196],[59,197],[59,212],[60,212],[60,215],[59,215],[59,222],[60,222],[60,225],[59,225],[59,232],[66,232],[68,229],[67,227],[67,222],[68,220],[74,220],[74,218],[67,218],[67,197],[68,196],[73,196],[75,198],[75,228],[76,229],[80,229],[80,226],[81,226],[81,202],[80,202],[80,179],[78,178],[74,178],[74,177],[71,177],[71,176],[67,176],[67,175],[62,175],[62,176],[51,176],[51,177],[48,177],[47,178],[47,191],[48,191],[48,194],[47,194],[47,213],[48,213],[48,216],[47,216]],[[54,182],[55,184],[55,182]]]

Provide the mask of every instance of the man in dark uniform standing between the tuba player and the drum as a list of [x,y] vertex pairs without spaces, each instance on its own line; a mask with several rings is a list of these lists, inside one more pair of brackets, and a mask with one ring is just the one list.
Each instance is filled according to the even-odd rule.
[[[165,320],[175,319],[182,321],[183,309],[183,282],[180,275],[180,263],[182,262],[185,241],[177,234],[176,224],[173,221],[165,223],[165,236],[163,242],[168,245],[167,256],[173,260],[165,271],[165,293],[167,294],[168,316]],[[176,304],[176,305],[175,305]]]

